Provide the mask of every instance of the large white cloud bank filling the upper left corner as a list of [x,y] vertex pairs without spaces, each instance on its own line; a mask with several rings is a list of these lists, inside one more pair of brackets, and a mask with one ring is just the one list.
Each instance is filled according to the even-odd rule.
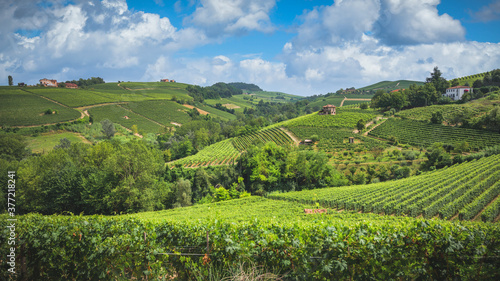
[[200,30],[178,29],[166,17],[130,11],[125,0],[63,2],[0,3],[1,72],[19,73],[16,78],[27,83],[36,83],[38,76],[71,80],[74,75],[138,80],[144,75],[141,65],[209,42]]

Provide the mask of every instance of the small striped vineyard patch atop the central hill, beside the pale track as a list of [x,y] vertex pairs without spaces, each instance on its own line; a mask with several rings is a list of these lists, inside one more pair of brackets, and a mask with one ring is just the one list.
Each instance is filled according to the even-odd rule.
[[242,152],[253,144],[266,142],[287,145],[292,144],[292,139],[284,131],[276,127],[233,138],[234,147]]

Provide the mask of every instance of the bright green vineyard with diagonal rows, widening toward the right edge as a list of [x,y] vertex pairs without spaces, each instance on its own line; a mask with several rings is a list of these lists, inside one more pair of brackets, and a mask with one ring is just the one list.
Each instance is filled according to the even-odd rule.
[[[492,221],[499,214],[500,155],[393,182],[270,195],[345,210]],[[488,205],[490,202],[493,204]]]

